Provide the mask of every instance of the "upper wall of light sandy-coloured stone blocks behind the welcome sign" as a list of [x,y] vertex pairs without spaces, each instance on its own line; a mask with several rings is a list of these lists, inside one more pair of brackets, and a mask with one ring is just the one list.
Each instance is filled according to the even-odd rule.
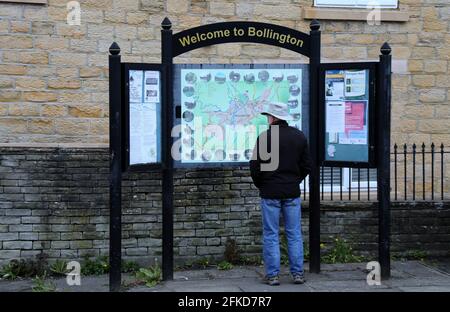
[[[160,23],[175,32],[207,23],[252,20],[308,32],[313,0],[83,0],[81,25],[66,23],[66,0],[0,3],[0,142],[107,143],[108,47],[123,61],[160,62]],[[400,0],[407,22],[322,20],[323,61],[377,60],[393,49],[392,142],[448,145],[449,2]],[[343,13],[344,14],[344,13]],[[255,52],[257,51],[257,53]],[[278,47],[224,44],[179,63],[296,63]]]

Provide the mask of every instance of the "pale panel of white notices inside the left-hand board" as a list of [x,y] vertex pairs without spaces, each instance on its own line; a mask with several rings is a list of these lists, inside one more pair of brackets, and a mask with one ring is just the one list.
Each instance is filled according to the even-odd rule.
[[129,72],[130,165],[159,162],[159,84],[158,71]]

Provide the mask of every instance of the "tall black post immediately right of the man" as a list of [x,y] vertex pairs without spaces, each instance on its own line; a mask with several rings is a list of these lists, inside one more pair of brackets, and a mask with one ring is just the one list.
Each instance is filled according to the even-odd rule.
[[309,271],[320,272],[320,163],[319,163],[319,65],[320,24],[310,24],[311,53],[309,58],[309,145],[312,169],[309,175]]

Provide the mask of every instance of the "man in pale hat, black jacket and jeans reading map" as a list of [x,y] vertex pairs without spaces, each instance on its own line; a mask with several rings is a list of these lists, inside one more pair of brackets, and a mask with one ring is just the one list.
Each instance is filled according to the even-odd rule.
[[290,115],[286,104],[271,103],[261,114],[267,116],[270,126],[256,141],[250,171],[261,196],[266,282],[271,286],[280,284],[278,233],[282,213],[290,272],[294,283],[303,284],[300,183],[311,170],[308,144],[302,131],[287,124]]

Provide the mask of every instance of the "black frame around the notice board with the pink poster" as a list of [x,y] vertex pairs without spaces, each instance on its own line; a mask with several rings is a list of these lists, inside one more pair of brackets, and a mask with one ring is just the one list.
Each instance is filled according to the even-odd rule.
[[[376,128],[377,128],[377,101],[376,101],[376,77],[378,62],[349,62],[349,63],[321,63],[319,67],[319,157],[322,166],[327,167],[351,167],[351,168],[376,168]],[[327,132],[326,132],[326,72],[330,70],[368,70],[368,98],[367,98],[367,159],[355,160],[330,160],[327,159]],[[345,100],[343,100],[345,102]],[[344,145],[344,144],[341,144]],[[353,146],[351,144],[345,144]],[[356,146],[356,145],[354,145]],[[355,149],[353,147],[352,149]],[[351,152],[351,149],[350,149]]]

